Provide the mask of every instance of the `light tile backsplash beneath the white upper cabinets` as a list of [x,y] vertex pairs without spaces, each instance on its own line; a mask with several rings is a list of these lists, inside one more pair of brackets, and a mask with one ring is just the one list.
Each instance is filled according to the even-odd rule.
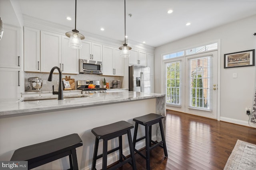
[[[62,78],[66,76],[70,76],[70,78],[75,79],[76,89],[77,89],[77,80],[100,80],[100,87],[103,87],[102,80],[105,78],[106,82],[109,83],[109,86],[112,86],[112,80],[121,80],[121,87],[122,87],[122,80],[123,77],[119,76],[102,76],[100,74],[62,74]],[[54,85],[54,90],[58,90],[57,80],[59,80],[59,74],[52,75],[52,82],[48,81],[49,73],[35,73],[35,72],[24,72],[24,82],[25,88],[29,86],[28,78],[30,77],[39,77],[43,80],[46,80],[46,85],[43,84],[41,90],[52,90],[52,85]]]

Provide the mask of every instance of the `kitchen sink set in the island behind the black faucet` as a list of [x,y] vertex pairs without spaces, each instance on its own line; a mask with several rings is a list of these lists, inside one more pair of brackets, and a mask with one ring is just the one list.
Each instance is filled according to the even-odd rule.
[[[90,97],[86,94],[73,94],[73,95],[63,95],[64,99],[70,98],[85,98]],[[58,100],[58,96],[41,96],[41,97],[24,97],[21,102],[28,102],[28,101],[36,101],[36,100]]]

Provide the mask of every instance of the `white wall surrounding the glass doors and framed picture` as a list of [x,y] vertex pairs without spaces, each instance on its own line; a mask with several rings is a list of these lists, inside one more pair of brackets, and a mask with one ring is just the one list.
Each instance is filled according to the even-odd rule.
[[[220,120],[248,125],[245,107],[252,108],[256,86],[256,66],[224,69],[224,54],[256,49],[256,36],[253,35],[255,32],[256,16],[251,16],[157,47],[155,50],[155,84],[163,81],[161,79],[162,69],[160,69],[161,54],[220,39],[220,56],[218,56],[220,60],[220,82],[218,82]],[[237,78],[232,78],[233,73],[237,73]],[[157,87],[155,92],[161,93],[162,88]]]

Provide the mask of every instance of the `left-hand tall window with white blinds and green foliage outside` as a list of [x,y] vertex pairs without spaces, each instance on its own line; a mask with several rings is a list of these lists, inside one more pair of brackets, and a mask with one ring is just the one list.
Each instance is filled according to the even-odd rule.
[[180,61],[166,63],[166,104],[180,105]]

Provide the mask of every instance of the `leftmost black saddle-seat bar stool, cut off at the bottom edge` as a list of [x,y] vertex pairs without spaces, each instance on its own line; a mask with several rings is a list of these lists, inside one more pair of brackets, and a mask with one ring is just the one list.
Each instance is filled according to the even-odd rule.
[[78,170],[76,148],[83,145],[77,133],[14,151],[11,160],[28,161],[28,169],[69,156],[70,170]]

